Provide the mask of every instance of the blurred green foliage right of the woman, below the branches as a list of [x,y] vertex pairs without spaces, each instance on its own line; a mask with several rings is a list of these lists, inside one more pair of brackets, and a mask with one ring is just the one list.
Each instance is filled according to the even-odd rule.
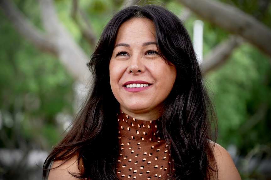
[[229,62],[207,78],[213,83],[218,115],[218,143],[235,144],[245,155],[270,141],[270,62],[245,44]]

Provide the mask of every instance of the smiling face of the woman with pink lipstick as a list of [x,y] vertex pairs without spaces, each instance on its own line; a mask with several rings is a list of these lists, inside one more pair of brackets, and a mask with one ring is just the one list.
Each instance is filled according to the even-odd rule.
[[159,108],[174,85],[176,69],[158,54],[151,20],[132,18],[119,27],[109,75],[122,111],[143,120],[160,116]]

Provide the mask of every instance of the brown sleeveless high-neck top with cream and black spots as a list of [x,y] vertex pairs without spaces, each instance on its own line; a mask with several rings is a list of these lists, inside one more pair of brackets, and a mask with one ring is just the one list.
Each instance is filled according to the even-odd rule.
[[119,130],[119,158],[117,176],[127,179],[167,179],[173,163],[169,147],[159,136],[159,119],[143,121],[120,111],[117,115]]

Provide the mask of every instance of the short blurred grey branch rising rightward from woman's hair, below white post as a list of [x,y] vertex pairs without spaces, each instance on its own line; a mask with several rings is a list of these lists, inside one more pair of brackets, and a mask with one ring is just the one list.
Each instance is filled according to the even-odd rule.
[[232,51],[242,43],[241,37],[232,37],[226,42],[218,44],[212,49],[212,52],[204,57],[201,68],[202,73],[207,72],[217,68],[218,66],[225,63],[232,53]]

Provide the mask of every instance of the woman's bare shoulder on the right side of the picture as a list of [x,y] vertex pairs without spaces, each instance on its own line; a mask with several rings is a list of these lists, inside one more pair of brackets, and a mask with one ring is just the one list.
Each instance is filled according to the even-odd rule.
[[218,167],[218,180],[241,180],[229,152],[224,147],[215,143],[213,153]]

